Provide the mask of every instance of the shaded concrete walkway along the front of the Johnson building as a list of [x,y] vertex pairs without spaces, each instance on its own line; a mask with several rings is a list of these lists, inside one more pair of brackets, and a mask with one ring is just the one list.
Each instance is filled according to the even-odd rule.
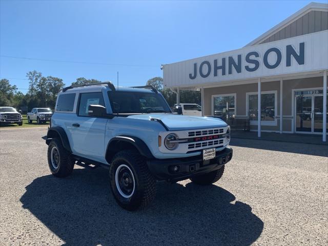
[[290,134],[290,133],[275,133],[275,132],[262,132],[261,137],[257,137],[257,132],[231,130],[231,138],[245,138],[245,139],[258,139],[270,140],[280,142],[297,142],[311,145],[327,145],[328,142],[322,141],[322,135],[315,134]]

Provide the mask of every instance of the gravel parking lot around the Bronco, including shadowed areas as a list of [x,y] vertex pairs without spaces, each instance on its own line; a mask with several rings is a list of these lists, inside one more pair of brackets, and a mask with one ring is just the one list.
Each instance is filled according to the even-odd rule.
[[50,175],[46,128],[0,131],[0,245],[327,245],[326,146],[233,139],[209,187],[157,184],[122,210],[106,169]]

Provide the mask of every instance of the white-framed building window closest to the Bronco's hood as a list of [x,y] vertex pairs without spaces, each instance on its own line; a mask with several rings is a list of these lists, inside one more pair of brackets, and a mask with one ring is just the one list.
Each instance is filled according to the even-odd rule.
[[236,94],[213,95],[213,115],[225,119],[236,115]]

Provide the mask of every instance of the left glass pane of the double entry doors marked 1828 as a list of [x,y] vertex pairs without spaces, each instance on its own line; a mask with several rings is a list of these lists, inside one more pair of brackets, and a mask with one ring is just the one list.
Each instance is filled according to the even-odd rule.
[[296,97],[296,132],[312,132],[312,96]]

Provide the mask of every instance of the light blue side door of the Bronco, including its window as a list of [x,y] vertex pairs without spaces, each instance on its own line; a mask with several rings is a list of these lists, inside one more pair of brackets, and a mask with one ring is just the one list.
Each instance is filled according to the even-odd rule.
[[77,117],[70,127],[74,153],[101,162],[105,160],[105,131],[108,119],[88,115],[89,105],[105,106],[103,93],[80,93]]

